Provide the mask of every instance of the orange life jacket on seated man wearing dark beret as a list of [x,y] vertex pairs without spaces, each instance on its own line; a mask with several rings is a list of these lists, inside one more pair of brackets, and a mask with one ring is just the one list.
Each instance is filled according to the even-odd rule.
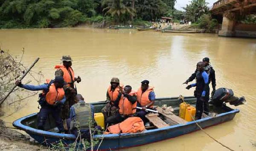
[[[148,87],[148,89],[142,93],[141,87],[137,91],[137,102],[140,103],[141,106],[148,105],[151,101],[148,99],[148,95],[153,90],[154,87]],[[150,108],[153,107],[153,105],[150,106]]]

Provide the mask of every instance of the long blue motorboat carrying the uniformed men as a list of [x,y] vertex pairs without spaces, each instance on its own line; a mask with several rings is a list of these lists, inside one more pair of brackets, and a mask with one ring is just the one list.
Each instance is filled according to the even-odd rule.
[[[185,102],[190,105],[195,105],[196,98],[195,97],[185,97]],[[173,113],[178,115],[179,113],[179,105],[181,101],[177,97],[175,98],[158,98],[155,100],[155,105],[161,107],[162,105],[172,106],[174,109]],[[103,102],[95,102],[91,103],[94,105],[95,113],[101,112],[102,107],[105,106],[105,101]],[[94,135],[93,137],[96,139],[101,139],[104,137],[102,144],[100,145],[101,151],[106,150],[117,150],[121,148],[130,148],[134,146],[145,145],[148,143],[158,142],[165,139],[171,139],[176,136],[180,136],[183,134],[188,134],[194,131],[200,130],[200,128],[196,125],[195,122],[201,126],[201,128],[207,128],[210,126],[214,126],[217,124],[221,124],[223,122],[230,121],[234,118],[236,113],[239,113],[238,109],[232,109],[223,105],[222,107],[215,107],[214,105],[210,105],[210,112],[218,113],[216,117],[206,117],[203,119],[199,119],[197,121],[186,122],[183,124],[177,124],[172,126],[167,126],[163,128],[156,129],[148,129],[141,133],[136,134],[106,134],[106,135]],[[63,143],[70,144],[73,143],[76,137],[73,134],[59,134],[51,132],[50,130],[55,128],[55,122],[53,119],[48,119],[46,123],[45,129],[48,131],[42,131],[37,129],[37,113],[31,114],[26,117],[22,117],[13,122],[13,126],[26,131],[32,138],[36,141],[40,142],[43,145],[50,145],[60,140]],[[58,128],[55,128],[58,130]],[[96,150],[98,146],[94,149]]]

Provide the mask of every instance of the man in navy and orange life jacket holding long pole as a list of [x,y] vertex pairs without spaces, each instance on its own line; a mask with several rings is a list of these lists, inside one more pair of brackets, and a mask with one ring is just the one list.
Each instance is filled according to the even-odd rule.
[[38,113],[38,129],[44,130],[44,124],[47,120],[47,116],[51,113],[55,119],[55,125],[58,127],[60,133],[64,132],[64,127],[61,119],[61,105],[66,101],[63,86],[65,84],[62,76],[55,76],[55,80],[47,80],[47,84],[38,86],[21,84],[20,80],[17,80],[15,84],[18,87],[22,87],[26,90],[38,91],[43,90],[43,93],[39,94],[41,109]]

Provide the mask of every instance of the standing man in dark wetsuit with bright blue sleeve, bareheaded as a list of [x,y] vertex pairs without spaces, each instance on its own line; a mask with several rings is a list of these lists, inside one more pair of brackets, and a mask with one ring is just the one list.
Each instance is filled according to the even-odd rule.
[[[196,83],[188,85],[186,89],[190,89],[191,87],[196,87],[196,113],[195,119],[201,119],[202,113],[208,115],[209,113],[209,76],[204,71],[205,63],[198,62],[197,64],[197,75],[196,75]],[[204,107],[204,108],[203,108]]]

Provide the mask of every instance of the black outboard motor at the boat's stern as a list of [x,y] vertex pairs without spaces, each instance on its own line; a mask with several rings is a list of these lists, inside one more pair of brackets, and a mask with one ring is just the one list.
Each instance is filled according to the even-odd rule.
[[233,90],[227,88],[218,88],[214,95],[212,96],[212,104],[221,106],[223,103],[229,102],[230,105],[243,105],[246,104],[244,96],[236,97],[234,96]]

